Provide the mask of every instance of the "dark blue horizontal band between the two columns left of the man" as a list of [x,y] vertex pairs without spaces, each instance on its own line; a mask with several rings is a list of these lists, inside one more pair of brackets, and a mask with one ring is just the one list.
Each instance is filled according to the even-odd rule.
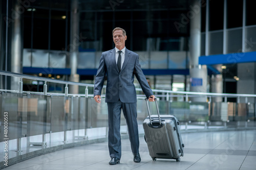
[[70,75],[70,68],[39,68],[39,67],[23,67],[24,74],[51,74],[51,75]]

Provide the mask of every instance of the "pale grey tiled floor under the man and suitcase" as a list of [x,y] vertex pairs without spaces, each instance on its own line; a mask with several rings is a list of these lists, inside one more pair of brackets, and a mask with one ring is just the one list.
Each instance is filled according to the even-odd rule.
[[122,140],[120,164],[109,165],[108,143],[95,143],[61,150],[8,166],[17,169],[256,169],[256,131],[217,131],[182,133],[184,157],[157,159],[148,155],[144,138],[140,138],[140,163],[133,162],[129,139]]

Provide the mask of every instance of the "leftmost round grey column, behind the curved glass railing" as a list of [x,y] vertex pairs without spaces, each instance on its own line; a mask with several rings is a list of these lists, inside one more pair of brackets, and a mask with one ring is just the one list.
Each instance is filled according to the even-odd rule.
[[[11,38],[11,71],[22,73],[22,17],[19,12],[19,1],[13,1],[13,11],[15,15],[12,15],[12,38]],[[15,16],[15,17],[14,17]],[[9,56],[8,56],[9,57]],[[11,78],[11,89],[18,90],[19,78]]]

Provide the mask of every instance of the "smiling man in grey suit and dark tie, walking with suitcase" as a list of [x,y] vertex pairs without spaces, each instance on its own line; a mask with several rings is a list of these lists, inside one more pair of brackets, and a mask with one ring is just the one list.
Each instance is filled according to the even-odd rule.
[[155,96],[140,68],[138,54],[125,48],[125,40],[127,39],[125,30],[115,28],[112,33],[115,48],[102,53],[94,84],[94,100],[100,103],[101,90],[105,75],[107,76],[105,102],[108,103],[109,113],[110,165],[120,163],[121,158],[121,109],[128,127],[134,162],[141,161],[134,75],[149,101],[155,100]]

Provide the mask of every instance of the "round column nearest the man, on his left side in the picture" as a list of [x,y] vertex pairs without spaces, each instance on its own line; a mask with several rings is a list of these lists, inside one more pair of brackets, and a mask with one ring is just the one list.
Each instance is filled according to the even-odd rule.
[[[77,61],[79,54],[79,11],[78,11],[78,0],[71,1],[71,22],[70,22],[70,68],[71,75],[70,81],[79,82],[79,75],[77,71]],[[69,93],[78,93],[78,86],[71,85]]]

